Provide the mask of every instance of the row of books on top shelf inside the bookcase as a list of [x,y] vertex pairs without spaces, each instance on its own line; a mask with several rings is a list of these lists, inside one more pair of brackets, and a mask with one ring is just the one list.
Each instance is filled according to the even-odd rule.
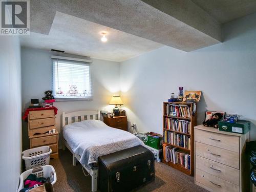
[[166,115],[174,117],[190,118],[190,105],[187,104],[166,104]]

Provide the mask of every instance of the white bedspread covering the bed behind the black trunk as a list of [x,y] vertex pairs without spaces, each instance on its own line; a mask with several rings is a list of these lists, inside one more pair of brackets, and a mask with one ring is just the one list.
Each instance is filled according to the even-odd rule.
[[80,163],[90,165],[98,157],[124,150],[143,142],[129,132],[112,128],[100,120],[84,120],[63,127],[63,137],[73,152],[81,156]]

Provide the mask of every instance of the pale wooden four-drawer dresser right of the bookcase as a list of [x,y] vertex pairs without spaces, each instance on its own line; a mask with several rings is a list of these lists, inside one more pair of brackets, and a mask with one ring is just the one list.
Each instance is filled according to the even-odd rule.
[[249,191],[245,135],[195,126],[195,183],[209,191]]

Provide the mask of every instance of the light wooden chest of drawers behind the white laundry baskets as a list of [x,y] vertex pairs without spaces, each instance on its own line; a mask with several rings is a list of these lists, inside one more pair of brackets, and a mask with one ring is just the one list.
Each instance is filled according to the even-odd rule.
[[[48,132],[53,129],[56,132],[49,134]],[[58,132],[55,126],[54,110],[30,111],[28,135],[30,148],[48,145],[52,149],[51,158],[58,158]]]

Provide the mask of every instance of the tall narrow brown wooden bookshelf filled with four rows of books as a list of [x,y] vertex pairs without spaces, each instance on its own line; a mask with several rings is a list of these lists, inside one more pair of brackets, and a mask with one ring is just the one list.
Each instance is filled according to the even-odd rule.
[[194,176],[196,123],[193,103],[163,102],[163,162],[189,176]]

